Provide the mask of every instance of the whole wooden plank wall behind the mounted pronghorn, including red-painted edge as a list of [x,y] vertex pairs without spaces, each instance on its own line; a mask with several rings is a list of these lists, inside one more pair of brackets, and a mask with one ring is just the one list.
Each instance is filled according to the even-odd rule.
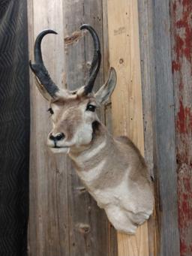
[[154,215],[136,236],[118,233],[117,241],[71,162],[46,148],[48,104],[31,76],[31,256],[192,253],[191,11],[190,0],[28,1],[30,59],[41,30],[58,32],[43,41],[44,60],[58,86],[85,83],[92,41],[79,28],[89,23],[98,31],[103,62],[97,86],[110,65],[118,73],[112,108],[107,104],[101,119],[114,134],[127,134],[145,155],[156,201]]

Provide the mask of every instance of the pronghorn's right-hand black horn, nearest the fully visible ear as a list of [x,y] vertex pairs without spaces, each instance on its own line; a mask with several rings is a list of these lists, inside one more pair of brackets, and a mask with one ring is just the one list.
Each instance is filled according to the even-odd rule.
[[92,92],[96,77],[98,75],[100,66],[101,66],[101,45],[99,41],[99,37],[97,32],[95,32],[95,29],[92,28],[92,26],[89,26],[87,24],[84,24],[80,27],[80,29],[87,29],[90,34],[92,35],[93,41],[94,41],[94,56],[92,59],[92,65],[89,71],[89,81],[85,86],[85,93],[89,94]]

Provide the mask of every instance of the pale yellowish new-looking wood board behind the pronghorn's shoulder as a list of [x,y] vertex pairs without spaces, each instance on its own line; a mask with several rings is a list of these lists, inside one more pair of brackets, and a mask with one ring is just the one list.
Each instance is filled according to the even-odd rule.
[[[136,1],[108,0],[110,65],[118,75],[112,97],[113,131],[127,135],[144,154],[139,26]],[[148,256],[147,223],[136,236],[118,233],[118,256]]]

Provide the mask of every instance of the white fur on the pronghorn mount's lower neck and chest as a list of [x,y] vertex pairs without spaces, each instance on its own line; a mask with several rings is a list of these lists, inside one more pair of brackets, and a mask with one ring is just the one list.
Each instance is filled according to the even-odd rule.
[[146,203],[143,208],[143,191],[140,191],[135,184],[129,187],[130,169],[124,170],[124,176],[118,185],[107,188],[95,188],[95,180],[102,179],[107,160],[101,161],[96,167],[78,171],[80,178],[86,184],[88,191],[98,203],[98,206],[105,209],[107,217],[113,226],[125,233],[133,234],[136,232],[138,224],[142,224],[152,212],[152,203]]

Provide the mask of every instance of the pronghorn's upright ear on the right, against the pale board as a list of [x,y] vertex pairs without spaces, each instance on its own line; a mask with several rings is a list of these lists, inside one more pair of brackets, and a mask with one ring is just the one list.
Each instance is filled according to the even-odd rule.
[[105,104],[108,101],[110,95],[112,95],[112,92],[115,89],[116,82],[117,75],[115,68],[110,68],[110,76],[107,80],[107,83],[105,83],[104,86],[102,86],[101,89],[99,89],[95,94],[95,98],[96,101],[98,101],[98,104]]

